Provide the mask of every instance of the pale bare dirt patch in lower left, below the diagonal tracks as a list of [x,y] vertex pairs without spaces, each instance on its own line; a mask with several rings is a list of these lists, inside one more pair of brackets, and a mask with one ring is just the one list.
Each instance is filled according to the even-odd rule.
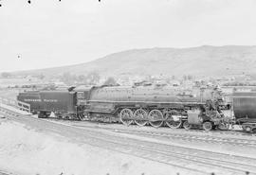
[[0,170],[13,174],[188,174],[174,166],[80,143],[70,143],[67,138],[54,133],[34,131],[7,119],[1,120],[0,133]]

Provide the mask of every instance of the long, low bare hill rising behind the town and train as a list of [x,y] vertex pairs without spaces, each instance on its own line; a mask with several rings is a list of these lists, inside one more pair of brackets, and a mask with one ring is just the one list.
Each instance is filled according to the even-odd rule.
[[190,48],[145,48],[122,51],[96,61],[16,72],[20,75],[82,75],[96,71],[117,75],[229,76],[256,73],[256,46],[210,46]]

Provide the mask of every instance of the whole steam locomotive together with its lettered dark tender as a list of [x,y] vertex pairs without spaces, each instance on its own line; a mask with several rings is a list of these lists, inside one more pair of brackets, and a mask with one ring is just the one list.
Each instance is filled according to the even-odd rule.
[[171,86],[92,86],[70,91],[30,91],[17,99],[30,104],[39,117],[147,124],[157,128],[202,126],[211,130],[223,121],[223,97],[217,88]]

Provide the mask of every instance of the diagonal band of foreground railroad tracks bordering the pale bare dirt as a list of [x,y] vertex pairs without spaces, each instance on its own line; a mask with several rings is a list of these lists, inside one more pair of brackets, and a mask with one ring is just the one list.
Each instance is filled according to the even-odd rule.
[[211,172],[215,174],[246,174],[246,171],[250,172],[250,174],[256,174],[256,159],[253,158],[228,156],[229,154],[124,138],[123,136],[102,133],[102,131],[66,126],[31,118],[30,116],[17,116],[17,114],[12,114],[11,112],[9,112],[8,117],[39,130],[53,131],[94,147],[115,150],[176,166],[187,170],[190,174]]

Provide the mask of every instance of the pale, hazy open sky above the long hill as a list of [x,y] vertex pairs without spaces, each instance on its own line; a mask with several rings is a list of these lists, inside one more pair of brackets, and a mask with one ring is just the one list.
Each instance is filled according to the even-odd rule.
[[0,0],[0,72],[152,47],[256,45],[255,0]]

